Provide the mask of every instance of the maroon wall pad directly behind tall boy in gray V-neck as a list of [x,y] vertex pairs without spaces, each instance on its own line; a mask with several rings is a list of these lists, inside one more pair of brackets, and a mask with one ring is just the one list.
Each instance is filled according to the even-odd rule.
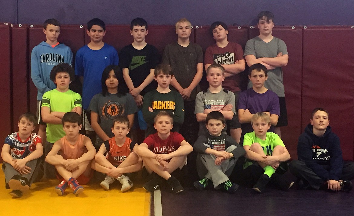
[[[250,29],[250,38],[259,35],[257,28]],[[297,159],[297,142],[301,129],[301,86],[302,86],[302,27],[275,26],[274,37],[283,40],[289,53],[288,64],[283,67],[285,100],[288,125],[281,128],[283,140],[291,159]]]

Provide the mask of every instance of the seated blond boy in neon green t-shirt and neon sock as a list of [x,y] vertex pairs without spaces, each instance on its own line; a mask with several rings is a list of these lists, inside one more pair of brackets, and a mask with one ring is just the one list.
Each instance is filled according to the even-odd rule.
[[290,154],[279,135],[267,132],[270,128],[269,115],[257,112],[252,116],[251,124],[254,131],[245,134],[243,142],[247,158],[244,164],[247,171],[243,177],[248,178],[248,182],[252,182],[252,177],[258,178],[253,189],[259,193],[264,192],[269,181],[284,191],[289,189],[294,182],[285,180],[280,174],[275,173],[275,170],[281,162],[290,159]]

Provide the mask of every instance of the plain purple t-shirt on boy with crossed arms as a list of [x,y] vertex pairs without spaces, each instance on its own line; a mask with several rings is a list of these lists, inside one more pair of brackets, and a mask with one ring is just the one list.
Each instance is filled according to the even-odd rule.
[[[279,98],[274,92],[268,89],[267,92],[259,94],[249,88],[246,91],[240,93],[238,100],[238,109],[249,110],[250,113],[255,114],[257,112],[269,112],[270,115],[275,114],[280,116]],[[253,132],[252,125],[250,123],[241,124],[242,134],[240,144],[243,143],[243,137],[246,133]],[[273,127],[270,127],[268,132],[272,132]]]

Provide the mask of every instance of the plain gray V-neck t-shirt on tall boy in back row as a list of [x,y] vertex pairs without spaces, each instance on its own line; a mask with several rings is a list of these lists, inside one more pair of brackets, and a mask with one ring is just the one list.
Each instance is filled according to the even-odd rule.
[[[258,58],[275,58],[278,53],[288,54],[284,41],[273,37],[268,43],[264,42],[258,36],[253,37],[246,43],[244,56],[253,55]],[[281,68],[268,70],[268,80],[264,83],[265,88],[275,92],[278,97],[284,97],[283,71]],[[248,88],[252,87],[252,83],[248,83]]]

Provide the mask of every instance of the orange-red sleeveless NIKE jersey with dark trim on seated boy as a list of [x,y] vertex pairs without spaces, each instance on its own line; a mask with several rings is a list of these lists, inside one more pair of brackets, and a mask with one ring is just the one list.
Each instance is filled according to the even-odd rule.
[[129,137],[125,138],[123,146],[118,146],[115,142],[115,138],[110,138],[103,142],[107,155],[106,158],[114,166],[119,166],[128,156],[132,153],[136,142],[132,141]]

